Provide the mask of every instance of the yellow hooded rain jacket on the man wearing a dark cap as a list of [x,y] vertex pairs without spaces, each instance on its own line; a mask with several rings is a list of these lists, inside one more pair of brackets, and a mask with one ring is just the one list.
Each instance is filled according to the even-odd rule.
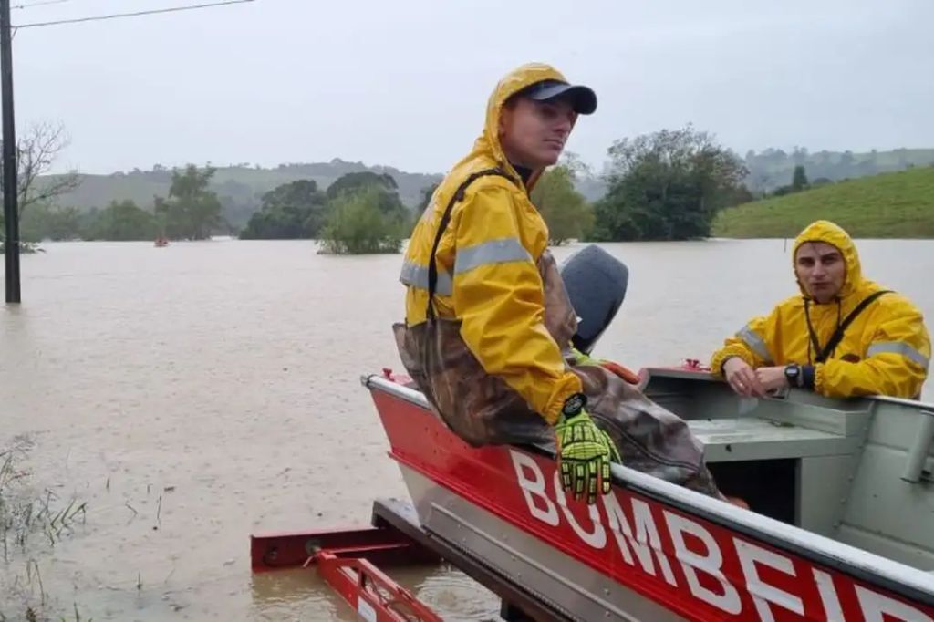
[[536,267],[548,246],[545,220],[523,188],[499,140],[500,113],[516,92],[545,79],[565,78],[546,64],[527,64],[502,78],[489,98],[483,134],[455,164],[432,195],[405,251],[402,281],[407,285],[405,320],[425,321],[428,263],[440,220],[467,177],[498,167],[503,177],[480,177],[451,212],[438,246],[434,308],[439,318],[458,318],[460,336],[489,375],[497,375],[531,407],[554,423],[564,401],[579,392],[581,380],[565,366],[561,348],[545,329],[543,280]]

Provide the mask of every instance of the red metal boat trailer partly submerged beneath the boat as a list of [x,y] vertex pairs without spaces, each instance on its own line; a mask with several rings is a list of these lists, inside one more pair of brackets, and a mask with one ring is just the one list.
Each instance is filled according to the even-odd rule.
[[411,504],[395,499],[373,504],[372,527],[263,533],[250,536],[254,573],[314,568],[368,622],[440,622],[443,618],[381,569],[450,562],[502,599],[503,620],[571,620],[509,577],[486,567],[418,523]]

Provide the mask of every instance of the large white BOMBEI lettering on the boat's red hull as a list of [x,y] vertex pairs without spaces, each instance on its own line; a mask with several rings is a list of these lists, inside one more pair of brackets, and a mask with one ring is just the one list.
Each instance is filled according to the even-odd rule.
[[[587,506],[589,520],[585,520],[586,524],[581,525],[577,517],[581,513],[576,507],[569,507],[560,487],[559,474],[555,474],[551,483],[553,489],[549,490],[547,478],[535,459],[512,449],[509,453],[516,471],[519,490],[534,520],[561,529],[563,516],[570,527],[570,531],[565,530],[566,533],[573,531],[582,544],[593,550],[605,551],[604,555],[612,554],[607,547],[610,542],[607,537],[609,530],[613,534],[613,541],[620,556],[630,567],[634,570],[641,569],[643,573],[656,579],[660,574],[660,578],[675,588],[673,593],[677,593],[677,590],[682,590],[682,594],[689,592],[693,598],[700,601],[699,605],[701,602],[705,603],[724,614],[743,620],[774,622],[778,608],[802,617],[808,615],[808,619],[814,619],[814,615],[818,615],[816,612],[823,609],[823,619],[842,620],[845,614],[838,589],[845,587],[851,595],[851,603],[855,602],[852,598],[855,590],[856,602],[866,622],[934,622],[934,618],[924,611],[856,585],[845,574],[839,575],[840,583],[835,584],[830,573],[813,568],[808,562],[796,558],[799,568],[800,563],[805,563],[808,564],[805,568],[810,570],[810,573],[804,571],[801,576],[796,573],[796,562],[792,558],[735,536],[725,536],[723,533],[718,540],[714,533],[700,522],[686,516],[661,509],[664,521],[657,524],[652,506],[640,499],[622,497],[629,501],[629,507],[625,508],[628,512],[624,511],[624,506],[620,503],[621,497],[616,492],[601,496],[599,504]],[[601,519],[600,506],[606,515],[605,523]],[[663,529],[659,530],[659,527]],[[690,537],[690,546],[686,536]],[[670,544],[663,542],[663,537],[670,541]],[[696,544],[698,542],[703,550],[697,550],[701,548]],[[678,585],[678,580],[672,572],[670,556],[665,552],[666,544],[668,550],[673,551],[672,560],[676,559],[680,565],[686,586]],[[739,562],[743,584],[729,582],[724,573],[725,555],[731,560],[730,568],[735,568],[737,561]],[[769,569],[765,576],[778,577],[780,575],[776,573],[784,573],[791,577],[798,588],[795,590],[797,593],[771,585],[763,577],[763,569]],[[636,572],[638,573],[638,570]],[[705,575],[708,580],[702,582],[701,575]],[[772,581],[775,580],[772,578]],[[811,580],[813,584],[810,584]],[[791,585],[790,582],[785,583]],[[715,585],[717,587],[713,587]],[[672,589],[671,587],[668,589]],[[748,594],[749,599],[744,601],[743,594]],[[672,601],[681,599],[675,596],[672,597]],[[743,611],[744,602],[750,601],[755,611],[749,611],[748,605],[747,610]],[[807,607],[805,601],[808,602]],[[806,609],[810,611],[806,612]]]

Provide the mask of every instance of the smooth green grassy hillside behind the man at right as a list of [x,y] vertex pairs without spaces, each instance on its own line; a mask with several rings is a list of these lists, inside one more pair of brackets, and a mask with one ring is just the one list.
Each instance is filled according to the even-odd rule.
[[841,181],[725,209],[716,237],[794,237],[817,219],[855,237],[934,237],[934,167]]

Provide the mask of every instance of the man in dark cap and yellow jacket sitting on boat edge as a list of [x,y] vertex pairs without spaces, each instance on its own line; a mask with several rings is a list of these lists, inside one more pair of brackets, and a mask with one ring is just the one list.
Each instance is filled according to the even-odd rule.
[[[434,191],[400,280],[400,356],[471,445],[556,446],[562,487],[592,503],[610,462],[724,499],[686,423],[571,347],[577,319],[529,192],[596,95],[527,64],[488,100],[473,150]],[[622,460],[620,460],[622,458]]]

